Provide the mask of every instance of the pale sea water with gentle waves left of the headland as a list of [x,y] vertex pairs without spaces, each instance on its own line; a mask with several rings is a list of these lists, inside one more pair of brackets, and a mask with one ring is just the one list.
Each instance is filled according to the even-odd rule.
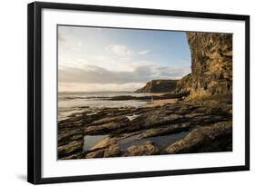
[[69,114],[79,113],[81,107],[89,108],[120,108],[120,107],[141,107],[146,101],[125,100],[112,101],[109,97],[120,95],[131,95],[142,97],[151,93],[132,92],[91,92],[91,93],[58,93],[58,120],[67,118]]

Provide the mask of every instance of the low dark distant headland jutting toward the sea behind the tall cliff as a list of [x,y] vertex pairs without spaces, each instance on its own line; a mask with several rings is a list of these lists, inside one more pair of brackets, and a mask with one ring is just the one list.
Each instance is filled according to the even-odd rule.
[[135,93],[169,93],[176,89],[177,80],[152,80]]

